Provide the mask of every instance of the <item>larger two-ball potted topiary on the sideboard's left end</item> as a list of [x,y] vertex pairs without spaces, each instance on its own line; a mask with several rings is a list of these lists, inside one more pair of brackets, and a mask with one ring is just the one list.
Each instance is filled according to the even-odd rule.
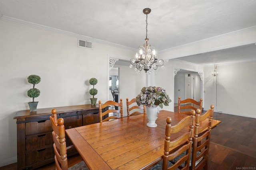
[[40,95],[40,90],[35,88],[35,85],[38,84],[40,81],[41,81],[41,78],[38,75],[32,74],[28,76],[28,82],[33,84],[33,88],[30,88],[27,92],[28,97],[33,98],[33,102],[28,102],[30,112],[36,111],[38,102],[35,102],[34,99]]

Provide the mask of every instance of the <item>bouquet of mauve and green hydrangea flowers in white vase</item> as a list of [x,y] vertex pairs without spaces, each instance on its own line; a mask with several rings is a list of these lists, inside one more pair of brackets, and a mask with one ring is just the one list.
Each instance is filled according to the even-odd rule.
[[153,107],[158,105],[161,109],[164,106],[169,106],[169,103],[172,102],[168,94],[161,87],[149,86],[143,87],[140,94],[136,97],[136,102],[138,106],[146,105],[148,107]]

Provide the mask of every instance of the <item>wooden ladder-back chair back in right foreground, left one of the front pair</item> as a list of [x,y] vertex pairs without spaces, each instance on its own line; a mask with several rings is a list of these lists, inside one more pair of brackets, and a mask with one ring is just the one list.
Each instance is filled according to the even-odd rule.
[[[182,166],[184,170],[189,169],[192,139],[194,135],[194,118],[195,112],[191,112],[190,116],[184,117],[179,123],[172,126],[171,117],[167,117],[164,140],[163,170],[175,170],[176,168],[181,167],[182,164],[184,164],[184,166]],[[180,137],[170,140],[170,136],[174,133],[178,133],[179,131],[184,131],[184,133]],[[172,162],[171,165],[168,165],[169,161],[174,160],[183,152],[186,152],[186,154],[179,158],[178,161]]]

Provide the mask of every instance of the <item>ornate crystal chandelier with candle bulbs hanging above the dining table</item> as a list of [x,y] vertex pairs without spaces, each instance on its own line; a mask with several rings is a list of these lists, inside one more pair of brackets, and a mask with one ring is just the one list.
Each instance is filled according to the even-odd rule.
[[151,9],[145,8],[143,13],[146,14],[146,43],[144,45],[139,46],[139,54],[136,53],[135,58],[130,59],[130,68],[135,66],[135,71],[137,73],[141,73],[142,69],[150,74],[154,69],[156,70],[158,66],[162,66],[164,69],[164,61],[162,59],[158,59],[156,55],[156,51],[154,47],[151,47],[148,44],[148,14],[150,14]]

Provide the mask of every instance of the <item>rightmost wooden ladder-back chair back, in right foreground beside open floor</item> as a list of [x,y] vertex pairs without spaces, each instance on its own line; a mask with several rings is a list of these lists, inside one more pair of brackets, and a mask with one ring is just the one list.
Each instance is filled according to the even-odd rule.
[[[206,169],[208,167],[208,152],[210,145],[210,137],[212,130],[212,117],[214,113],[214,105],[210,106],[203,115],[201,114],[200,109],[196,109],[196,118],[195,118],[195,129],[194,129],[194,138],[193,138],[193,149],[192,149],[192,160],[191,160],[191,169]],[[203,122],[208,118],[207,122]],[[196,153],[200,152],[198,156]],[[200,160],[202,159],[202,160]],[[198,160],[200,160],[199,163]]]

